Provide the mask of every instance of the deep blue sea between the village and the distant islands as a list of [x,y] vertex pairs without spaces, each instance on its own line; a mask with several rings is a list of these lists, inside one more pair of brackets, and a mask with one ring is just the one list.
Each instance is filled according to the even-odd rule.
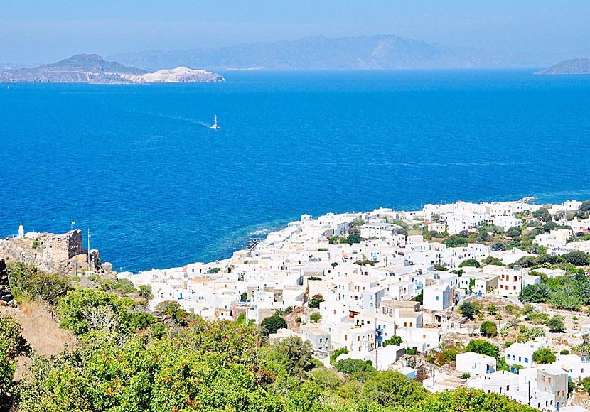
[[226,258],[304,213],[590,199],[590,76],[533,71],[0,85],[0,236],[75,222],[139,271]]

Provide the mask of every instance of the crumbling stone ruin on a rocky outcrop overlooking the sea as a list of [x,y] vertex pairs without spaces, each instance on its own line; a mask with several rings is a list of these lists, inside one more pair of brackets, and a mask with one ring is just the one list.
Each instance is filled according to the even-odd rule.
[[[90,251],[93,271],[112,271],[112,265],[101,264],[97,250]],[[37,239],[4,239],[0,241],[0,261],[21,261],[50,273],[73,274],[88,268],[88,254],[82,246],[82,232],[42,233]]]

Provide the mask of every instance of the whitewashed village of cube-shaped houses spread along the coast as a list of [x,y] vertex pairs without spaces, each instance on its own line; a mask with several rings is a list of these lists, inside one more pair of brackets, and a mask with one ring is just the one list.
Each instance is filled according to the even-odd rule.
[[584,302],[535,293],[587,277],[575,259],[590,251],[589,206],[526,198],[303,215],[230,259],[118,278],[151,287],[152,310],[174,301],[205,319],[281,318],[270,342],[299,336],[328,367],[356,359],[431,392],[466,386],[581,412],[569,384],[590,377]]

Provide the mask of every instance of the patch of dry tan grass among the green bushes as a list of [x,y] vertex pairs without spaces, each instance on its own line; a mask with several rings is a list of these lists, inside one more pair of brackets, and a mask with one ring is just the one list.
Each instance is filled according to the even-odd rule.
[[23,337],[38,354],[50,356],[63,351],[66,345],[75,345],[74,335],[60,329],[44,305],[31,300],[23,301],[21,310],[15,315],[21,320]]

